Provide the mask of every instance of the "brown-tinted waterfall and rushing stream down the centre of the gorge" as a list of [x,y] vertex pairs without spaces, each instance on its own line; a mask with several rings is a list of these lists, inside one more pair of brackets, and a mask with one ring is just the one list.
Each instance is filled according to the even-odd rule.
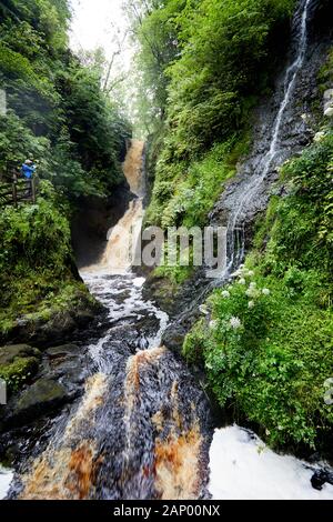
[[143,300],[144,280],[132,273],[118,229],[142,222],[142,155],[143,143],[132,142],[124,173],[138,198],[110,231],[100,262],[82,271],[109,311],[109,330],[88,347],[83,399],[22,471],[20,499],[208,495],[208,401],[183,362],[161,348],[168,315]]

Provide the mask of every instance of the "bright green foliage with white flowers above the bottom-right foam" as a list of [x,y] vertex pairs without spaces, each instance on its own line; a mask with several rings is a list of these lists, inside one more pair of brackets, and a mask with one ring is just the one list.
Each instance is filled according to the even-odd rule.
[[220,404],[234,404],[272,445],[313,448],[333,428],[332,408],[323,399],[333,371],[333,322],[332,312],[312,300],[319,274],[297,275],[306,280],[303,290],[289,272],[284,281],[256,275],[216,291],[208,302],[211,322],[195,325],[183,353],[190,362],[204,362]]

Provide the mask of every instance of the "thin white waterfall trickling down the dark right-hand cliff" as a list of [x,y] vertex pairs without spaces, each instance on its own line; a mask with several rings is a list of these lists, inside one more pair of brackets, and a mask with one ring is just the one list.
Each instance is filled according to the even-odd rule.
[[238,268],[245,253],[245,222],[244,217],[249,204],[255,199],[262,182],[270,171],[279,165],[279,151],[281,142],[281,130],[284,122],[285,111],[289,108],[296,78],[303,68],[307,49],[307,22],[311,4],[314,0],[302,0],[295,13],[293,26],[295,30],[295,59],[287,67],[283,81],[283,99],[274,121],[272,138],[268,152],[263,155],[258,169],[251,177],[245,190],[243,191],[238,205],[231,212],[228,222],[228,268],[225,275],[229,275],[233,269]]

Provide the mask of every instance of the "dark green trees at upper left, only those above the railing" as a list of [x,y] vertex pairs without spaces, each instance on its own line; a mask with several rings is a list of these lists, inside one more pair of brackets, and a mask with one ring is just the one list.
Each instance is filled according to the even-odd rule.
[[[65,0],[1,2],[0,169],[28,154],[39,175],[68,198],[104,195],[123,177],[120,161],[129,123],[101,90],[101,77],[68,49]],[[100,72],[101,73],[101,72]]]

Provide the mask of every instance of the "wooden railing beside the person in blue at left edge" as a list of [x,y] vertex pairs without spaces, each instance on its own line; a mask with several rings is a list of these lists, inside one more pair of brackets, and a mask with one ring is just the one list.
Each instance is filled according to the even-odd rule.
[[0,182],[0,207],[11,204],[18,208],[20,202],[36,203],[38,193],[38,180],[36,178],[19,178],[17,174],[11,180]]

